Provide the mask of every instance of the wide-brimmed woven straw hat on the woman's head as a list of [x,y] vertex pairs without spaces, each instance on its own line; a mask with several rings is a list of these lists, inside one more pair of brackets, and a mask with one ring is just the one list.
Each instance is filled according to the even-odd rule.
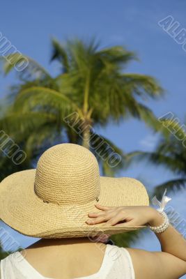
[[102,177],[91,151],[58,144],[42,154],[36,169],[0,183],[0,218],[21,234],[41,238],[117,234],[146,226],[87,225],[89,212],[104,206],[149,205],[146,188],[131,178]]

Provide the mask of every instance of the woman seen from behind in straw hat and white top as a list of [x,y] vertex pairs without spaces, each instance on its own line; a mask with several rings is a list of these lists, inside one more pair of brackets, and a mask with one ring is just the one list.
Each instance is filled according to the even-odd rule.
[[[1,261],[1,279],[176,279],[186,273],[186,241],[165,213],[149,206],[144,186],[135,179],[100,177],[93,154],[76,144],[53,146],[37,169],[4,179],[0,218],[41,238]],[[162,252],[93,241],[147,226]]]

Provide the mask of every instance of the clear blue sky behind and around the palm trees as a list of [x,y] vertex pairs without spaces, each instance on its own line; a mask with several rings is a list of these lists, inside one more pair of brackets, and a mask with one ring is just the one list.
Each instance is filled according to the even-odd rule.
[[[17,50],[36,59],[52,75],[59,73],[59,66],[49,63],[52,37],[64,41],[75,36],[84,39],[95,36],[102,47],[125,45],[128,50],[137,52],[140,59],[132,62],[126,71],[153,75],[166,91],[162,100],[150,100],[147,105],[157,116],[173,112],[182,123],[185,116],[186,52],[158,22],[171,15],[180,23],[180,28],[186,28],[185,8],[184,0],[3,1],[0,31]],[[0,96],[5,96],[12,82],[15,82],[15,75],[1,76]],[[123,151],[153,150],[157,142],[157,135],[144,123],[132,119],[119,126],[110,125],[100,133]],[[173,177],[162,167],[145,164],[134,164],[121,175],[142,179],[149,191]],[[185,199],[185,192],[177,194],[172,204],[186,217]],[[25,237],[17,237],[24,245],[28,243]],[[157,244],[151,234],[148,241],[142,239],[138,243],[149,250],[159,248]]]

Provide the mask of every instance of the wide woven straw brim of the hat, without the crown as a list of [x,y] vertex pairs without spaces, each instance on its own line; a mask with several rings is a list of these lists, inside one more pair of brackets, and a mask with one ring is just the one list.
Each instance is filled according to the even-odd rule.
[[100,177],[99,201],[87,204],[59,205],[43,202],[34,192],[36,169],[11,174],[0,183],[0,218],[26,236],[67,238],[118,234],[144,226],[87,225],[88,213],[103,206],[148,206],[144,185],[136,179]]

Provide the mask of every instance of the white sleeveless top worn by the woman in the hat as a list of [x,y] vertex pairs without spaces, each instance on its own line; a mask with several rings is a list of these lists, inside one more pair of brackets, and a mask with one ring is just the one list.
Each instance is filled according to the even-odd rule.
[[[14,252],[1,260],[0,277],[1,279],[52,279],[38,273],[20,252]],[[76,279],[134,279],[130,254],[125,248],[107,244],[100,270],[91,276]]]

